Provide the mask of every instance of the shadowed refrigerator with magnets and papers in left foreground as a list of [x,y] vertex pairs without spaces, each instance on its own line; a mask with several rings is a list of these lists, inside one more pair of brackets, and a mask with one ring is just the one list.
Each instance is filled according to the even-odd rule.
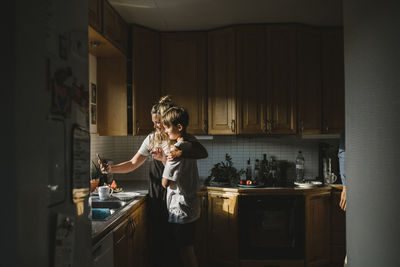
[[16,0],[12,8],[16,212],[7,222],[16,257],[3,263],[90,266],[87,1]]

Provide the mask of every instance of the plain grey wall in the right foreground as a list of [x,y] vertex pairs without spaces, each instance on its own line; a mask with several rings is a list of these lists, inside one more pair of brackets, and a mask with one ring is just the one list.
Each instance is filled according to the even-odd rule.
[[348,265],[400,266],[400,3],[343,5]]

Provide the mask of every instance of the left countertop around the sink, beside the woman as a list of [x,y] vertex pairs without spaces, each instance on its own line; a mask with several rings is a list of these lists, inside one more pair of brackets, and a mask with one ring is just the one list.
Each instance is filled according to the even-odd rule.
[[[140,196],[128,201],[121,210],[115,212],[107,220],[92,221],[92,242],[99,241],[109,231],[116,227],[128,214],[132,213],[144,201],[148,194],[148,181],[119,181],[118,187],[123,192],[138,192]],[[129,212],[128,212],[129,211]]]

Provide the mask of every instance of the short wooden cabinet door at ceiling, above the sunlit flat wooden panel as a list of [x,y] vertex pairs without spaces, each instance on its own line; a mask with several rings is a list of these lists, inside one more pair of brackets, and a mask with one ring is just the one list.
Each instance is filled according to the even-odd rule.
[[103,34],[121,51],[126,53],[128,25],[126,25],[108,1],[103,2]]

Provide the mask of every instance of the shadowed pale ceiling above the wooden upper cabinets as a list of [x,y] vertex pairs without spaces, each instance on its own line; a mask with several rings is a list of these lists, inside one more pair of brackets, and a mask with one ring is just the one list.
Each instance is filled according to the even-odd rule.
[[109,0],[128,23],[159,31],[248,23],[342,25],[342,0]]

